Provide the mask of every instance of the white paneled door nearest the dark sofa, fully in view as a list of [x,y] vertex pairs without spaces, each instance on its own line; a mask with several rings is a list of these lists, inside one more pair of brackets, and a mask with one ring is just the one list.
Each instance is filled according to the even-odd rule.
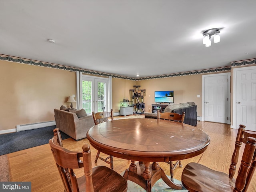
[[204,120],[230,124],[230,73],[203,76]]

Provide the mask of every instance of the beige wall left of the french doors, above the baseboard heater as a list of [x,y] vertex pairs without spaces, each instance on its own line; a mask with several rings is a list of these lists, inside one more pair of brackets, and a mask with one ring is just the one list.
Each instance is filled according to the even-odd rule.
[[54,108],[76,94],[75,72],[7,61],[0,68],[0,130],[53,121]]

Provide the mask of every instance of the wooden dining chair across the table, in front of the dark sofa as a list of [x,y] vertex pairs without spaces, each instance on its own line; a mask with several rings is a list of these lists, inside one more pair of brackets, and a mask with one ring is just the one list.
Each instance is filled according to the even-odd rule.
[[[171,120],[171,121],[177,121],[177,122],[184,122],[185,118],[185,112],[182,112],[182,114],[178,113],[171,113],[171,112],[166,112],[166,113],[161,113],[160,110],[157,110],[157,118],[158,119],[164,119],[164,120]],[[174,170],[179,164],[179,167],[182,167],[181,161],[178,160],[175,164],[173,164],[172,161],[167,162],[170,164],[170,176],[171,180],[173,181],[173,176],[174,176]]]

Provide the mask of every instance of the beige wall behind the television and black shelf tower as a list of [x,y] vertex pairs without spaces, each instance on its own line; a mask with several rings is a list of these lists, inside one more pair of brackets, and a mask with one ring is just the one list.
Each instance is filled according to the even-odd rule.
[[[113,78],[112,79],[112,99],[113,110],[118,112],[120,101],[128,98],[132,101],[134,85],[140,85],[140,89],[146,89],[144,94],[145,112],[151,112],[151,104],[154,102],[155,91],[174,90],[174,103],[195,102],[198,106],[198,116],[202,116],[202,75],[188,75],[170,78],[160,78],[152,80],[132,81]],[[200,95],[200,98],[197,95]]]

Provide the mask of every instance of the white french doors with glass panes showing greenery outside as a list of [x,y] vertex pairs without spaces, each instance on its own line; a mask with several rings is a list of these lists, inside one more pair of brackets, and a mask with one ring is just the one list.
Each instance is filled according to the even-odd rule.
[[108,102],[108,78],[82,77],[82,107],[86,113],[105,111]]

